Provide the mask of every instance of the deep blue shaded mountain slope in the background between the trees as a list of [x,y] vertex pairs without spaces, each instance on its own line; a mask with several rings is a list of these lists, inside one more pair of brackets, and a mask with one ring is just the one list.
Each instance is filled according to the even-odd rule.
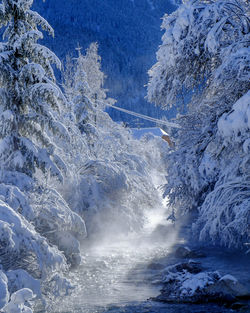
[[[160,44],[161,17],[175,8],[171,0],[34,2],[34,9],[55,29],[54,39],[45,38],[52,51],[64,59],[69,53],[76,56],[78,44],[86,49],[97,41],[110,95],[118,100],[118,105],[154,117],[161,111],[144,100],[144,85]],[[121,116],[126,121],[133,119],[110,110],[116,120]]]

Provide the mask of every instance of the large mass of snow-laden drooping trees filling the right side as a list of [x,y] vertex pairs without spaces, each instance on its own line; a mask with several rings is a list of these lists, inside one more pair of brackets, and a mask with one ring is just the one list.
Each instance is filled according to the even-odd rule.
[[[250,235],[249,128],[239,117],[247,119],[249,110],[247,3],[188,1],[164,17],[163,29],[148,98],[169,108],[192,95],[188,113],[177,117],[181,129],[169,130],[175,150],[167,158],[166,194],[178,214],[199,208],[194,229],[201,239],[242,246]],[[238,138],[225,137],[234,132],[224,120],[228,129],[242,123]]]

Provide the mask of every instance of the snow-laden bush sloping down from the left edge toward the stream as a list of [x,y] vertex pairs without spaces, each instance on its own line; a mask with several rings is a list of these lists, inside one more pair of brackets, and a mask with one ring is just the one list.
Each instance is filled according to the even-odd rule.
[[48,272],[66,268],[65,258],[50,247],[20,214],[0,201],[1,264],[5,270],[25,268],[33,276],[46,277]]

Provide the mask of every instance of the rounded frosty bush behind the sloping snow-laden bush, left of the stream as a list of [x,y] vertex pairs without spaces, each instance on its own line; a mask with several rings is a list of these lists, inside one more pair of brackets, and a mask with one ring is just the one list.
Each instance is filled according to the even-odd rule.
[[42,189],[40,194],[36,193],[32,205],[37,212],[33,221],[36,230],[64,252],[69,264],[79,265],[80,242],[86,237],[82,218],[55,189]]

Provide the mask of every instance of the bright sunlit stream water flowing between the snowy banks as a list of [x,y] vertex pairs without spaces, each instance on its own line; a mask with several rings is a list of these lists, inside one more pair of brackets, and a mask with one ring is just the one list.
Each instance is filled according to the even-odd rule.
[[[164,304],[148,300],[159,295],[159,260],[166,259],[174,229],[157,219],[140,236],[86,244],[83,264],[71,272],[73,294],[57,303],[53,313],[195,313],[231,312],[216,305]],[[165,230],[166,232],[164,233]],[[168,244],[166,233],[169,234]]]

